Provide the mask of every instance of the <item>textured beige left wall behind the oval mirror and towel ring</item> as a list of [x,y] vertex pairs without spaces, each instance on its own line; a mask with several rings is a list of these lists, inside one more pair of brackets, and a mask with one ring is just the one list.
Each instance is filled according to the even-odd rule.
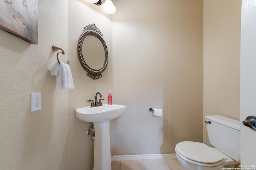
[[[80,0],[39,1],[38,45],[0,30],[0,169],[91,170],[93,141],[90,123],[75,117],[75,109],[89,106],[97,91],[104,98],[112,86],[112,58],[100,80],[86,75],[77,55],[84,26],[95,23],[112,55],[111,19]],[[92,6],[92,8],[90,7]],[[65,55],[74,90],[58,89],[58,78],[48,68],[56,62],[52,45]],[[42,110],[30,112],[30,93],[42,92]]]

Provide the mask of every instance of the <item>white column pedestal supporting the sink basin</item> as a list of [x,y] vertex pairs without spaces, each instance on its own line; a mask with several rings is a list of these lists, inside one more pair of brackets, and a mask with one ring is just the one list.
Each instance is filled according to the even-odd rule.
[[95,131],[93,170],[111,170],[110,121],[93,124]]

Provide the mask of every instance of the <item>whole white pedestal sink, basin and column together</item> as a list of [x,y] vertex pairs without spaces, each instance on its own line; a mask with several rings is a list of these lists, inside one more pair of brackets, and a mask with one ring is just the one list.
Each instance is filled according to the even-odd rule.
[[117,104],[76,109],[79,120],[94,124],[94,170],[111,170],[110,120],[122,115],[125,109],[126,106]]

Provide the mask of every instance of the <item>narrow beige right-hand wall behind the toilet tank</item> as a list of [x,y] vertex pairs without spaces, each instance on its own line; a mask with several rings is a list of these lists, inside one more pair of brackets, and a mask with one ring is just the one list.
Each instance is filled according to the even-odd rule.
[[240,120],[240,22],[241,0],[204,0],[204,117]]

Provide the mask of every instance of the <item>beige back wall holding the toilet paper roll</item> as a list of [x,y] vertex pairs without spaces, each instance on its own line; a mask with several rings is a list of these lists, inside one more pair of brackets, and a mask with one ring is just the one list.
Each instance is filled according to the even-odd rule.
[[[202,142],[202,0],[114,1],[115,155],[175,153]],[[153,117],[148,109],[163,109]]]

